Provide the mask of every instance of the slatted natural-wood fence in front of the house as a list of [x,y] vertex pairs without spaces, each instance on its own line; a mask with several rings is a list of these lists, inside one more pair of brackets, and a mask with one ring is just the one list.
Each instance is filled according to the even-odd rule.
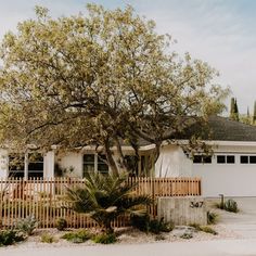
[[[85,214],[77,214],[66,206],[66,188],[81,185],[82,179],[0,179],[0,225],[12,228],[18,219],[34,216],[39,221],[39,228],[55,227],[59,218],[65,218],[68,228],[91,228],[95,222]],[[201,195],[201,179],[199,178],[129,178],[128,182],[138,182],[137,194],[151,195],[154,202],[159,196]],[[150,208],[150,214],[157,215],[156,206]],[[128,225],[127,218],[119,218],[113,227]]]

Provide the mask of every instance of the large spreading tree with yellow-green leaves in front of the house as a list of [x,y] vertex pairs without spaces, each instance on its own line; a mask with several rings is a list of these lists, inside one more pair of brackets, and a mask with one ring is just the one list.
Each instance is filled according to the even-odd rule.
[[157,157],[163,141],[223,107],[217,72],[171,52],[171,38],[130,7],[89,4],[85,15],[60,18],[37,7],[36,14],[1,44],[2,144],[95,145],[117,174],[127,167],[121,143],[138,154],[143,139]]

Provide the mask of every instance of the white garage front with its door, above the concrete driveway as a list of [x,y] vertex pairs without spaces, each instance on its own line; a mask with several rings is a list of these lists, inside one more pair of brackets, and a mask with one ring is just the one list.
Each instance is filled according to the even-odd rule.
[[[202,178],[204,196],[256,196],[256,164],[241,164],[241,155],[255,155],[253,145],[220,145],[212,164],[193,164],[192,175]],[[234,155],[234,164],[218,164],[217,155]]]

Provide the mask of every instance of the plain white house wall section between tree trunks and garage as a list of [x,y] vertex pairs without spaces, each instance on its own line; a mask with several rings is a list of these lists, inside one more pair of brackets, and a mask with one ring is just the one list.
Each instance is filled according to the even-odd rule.
[[192,162],[178,145],[164,145],[155,164],[155,177],[191,177]]

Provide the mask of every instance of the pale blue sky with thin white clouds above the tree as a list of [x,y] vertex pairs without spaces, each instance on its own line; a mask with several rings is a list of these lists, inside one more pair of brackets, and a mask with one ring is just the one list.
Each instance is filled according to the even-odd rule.
[[[0,40],[18,22],[34,17],[42,5],[52,16],[84,12],[94,2],[107,9],[130,4],[156,22],[159,34],[178,42],[171,48],[206,61],[220,73],[216,80],[230,87],[240,113],[253,112],[256,100],[256,0],[0,0]],[[229,105],[229,99],[227,104]]]

